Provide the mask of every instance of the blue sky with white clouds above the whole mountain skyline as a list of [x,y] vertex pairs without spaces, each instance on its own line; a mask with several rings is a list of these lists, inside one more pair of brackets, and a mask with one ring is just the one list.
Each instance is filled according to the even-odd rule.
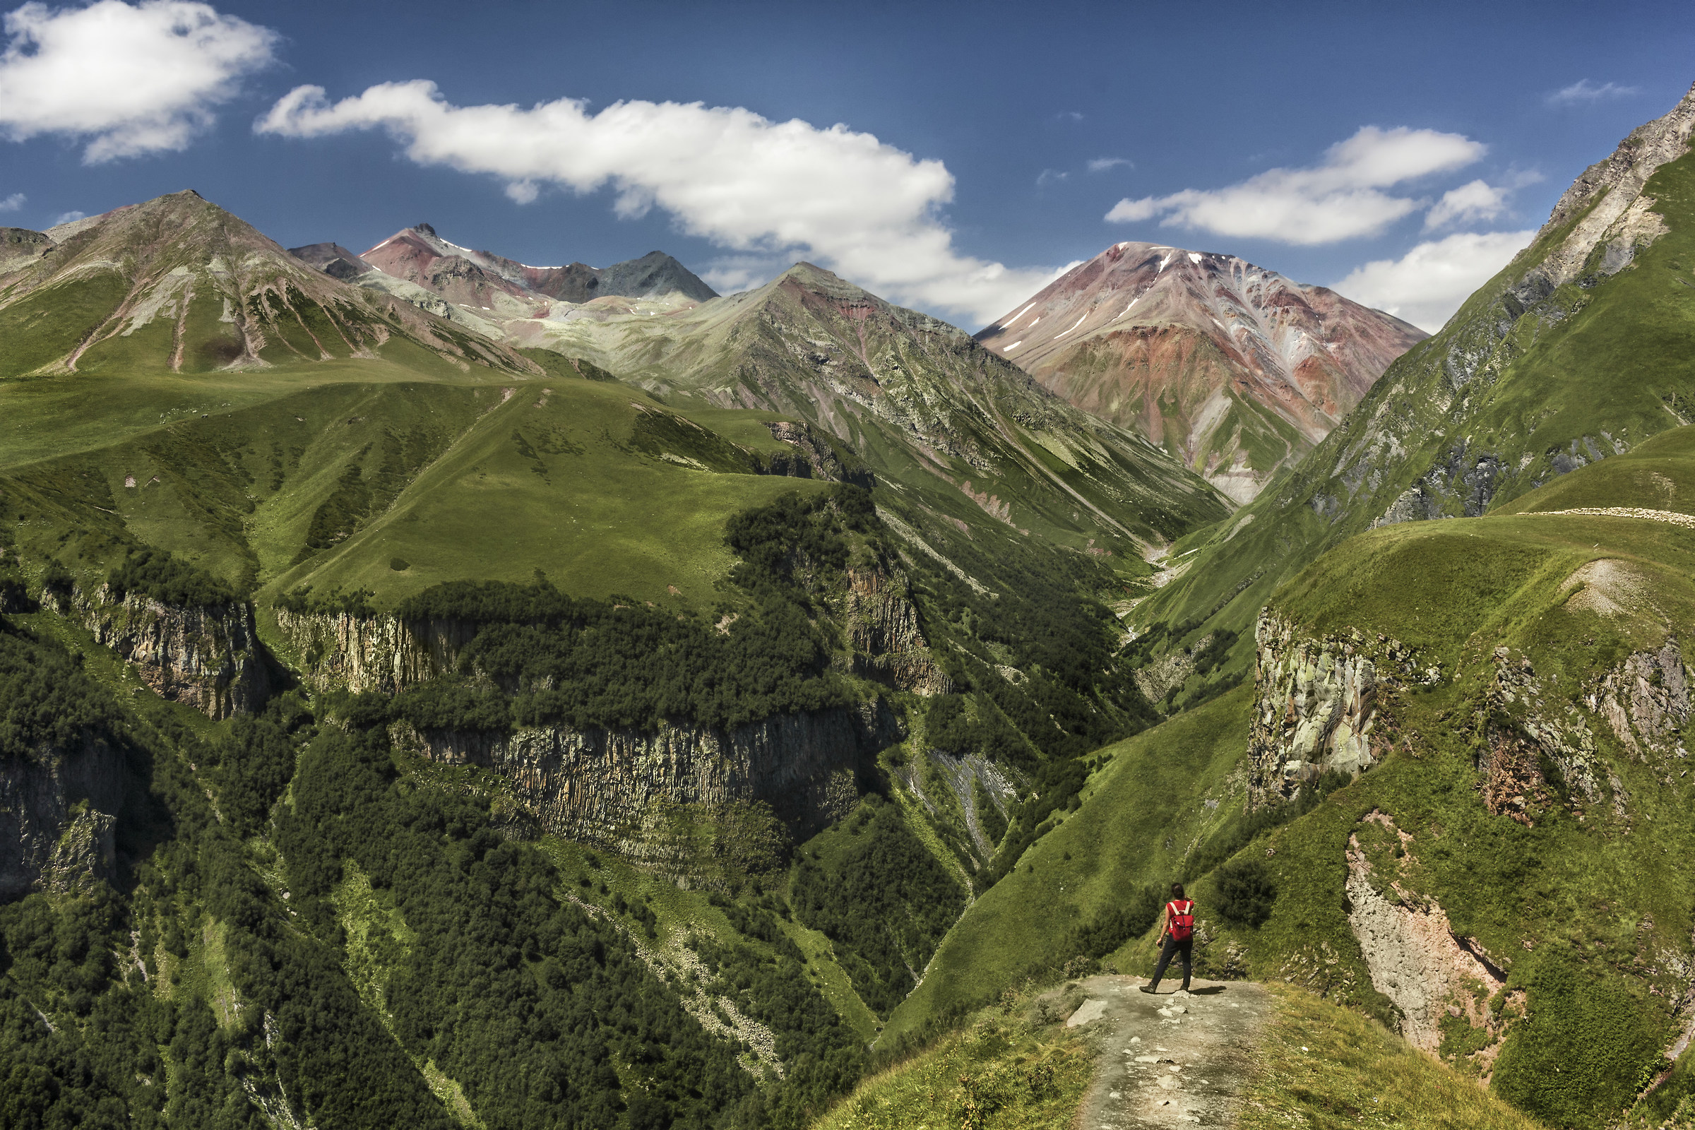
[[193,188],[286,247],[809,259],[968,330],[1119,241],[1434,330],[1695,80],[1687,0],[0,10],[0,225]]

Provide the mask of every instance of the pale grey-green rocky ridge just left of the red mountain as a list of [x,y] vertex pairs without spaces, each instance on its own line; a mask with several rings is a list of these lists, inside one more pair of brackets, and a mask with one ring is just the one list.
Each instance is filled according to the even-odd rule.
[[890,505],[909,522],[929,510],[1136,562],[1141,542],[1227,510],[1148,440],[1048,395],[958,329],[810,264],[692,310],[546,334],[668,400],[812,422],[898,485]]

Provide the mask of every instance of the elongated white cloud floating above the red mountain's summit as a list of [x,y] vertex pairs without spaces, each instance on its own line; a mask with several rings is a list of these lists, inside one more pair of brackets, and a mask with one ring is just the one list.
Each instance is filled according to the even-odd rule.
[[1307,169],[1266,169],[1227,188],[1185,188],[1170,197],[1124,198],[1110,222],[1151,220],[1217,235],[1275,239],[1285,244],[1331,244],[1375,235],[1424,207],[1393,188],[1478,161],[1487,147],[1459,134],[1432,129],[1364,125],[1331,146],[1324,161]]

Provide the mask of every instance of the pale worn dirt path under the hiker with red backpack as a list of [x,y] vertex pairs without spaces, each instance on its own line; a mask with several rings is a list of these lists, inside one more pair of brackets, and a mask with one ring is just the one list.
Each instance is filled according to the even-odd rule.
[[[1141,978],[1098,976],[1078,984],[1083,1003],[1066,1027],[1088,1025],[1100,1047],[1095,1083],[1076,1130],[1229,1127],[1248,1079],[1249,1050],[1271,1000],[1248,981],[1168,981],[1141,993]],[[1073,991],[1075,998],[1075,991]]]

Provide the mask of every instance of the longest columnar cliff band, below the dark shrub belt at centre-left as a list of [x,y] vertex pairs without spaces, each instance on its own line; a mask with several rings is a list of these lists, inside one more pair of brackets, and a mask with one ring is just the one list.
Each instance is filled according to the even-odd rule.
[[763,801],[805,839],[859,800],[856,774],[903,737],[886,703],[776,715],[732,730],[663,723],[658,732],[525,727],[512,734],[419,734],[402,747],[441,764],[490,769],[544,832],[654,854],[654,822],[675,805]]

